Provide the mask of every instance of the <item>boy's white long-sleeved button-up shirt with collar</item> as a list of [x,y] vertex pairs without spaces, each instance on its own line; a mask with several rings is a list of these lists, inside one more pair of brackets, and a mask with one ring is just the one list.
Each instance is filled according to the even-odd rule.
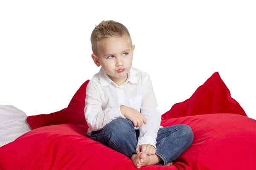
[[137,146],[151,144],[156,148],[157,132],[160,127],[161,114],[154,95],[150,76],[132,67],[128,79],[118,86],[101,68],[90,79],[86,88],[84,115],[89,126],[87,135],[101,130],[105,125],[117,118],[124,118],[120,106],[136,109],[145,116],[146,125],[135,127],[140,129]]

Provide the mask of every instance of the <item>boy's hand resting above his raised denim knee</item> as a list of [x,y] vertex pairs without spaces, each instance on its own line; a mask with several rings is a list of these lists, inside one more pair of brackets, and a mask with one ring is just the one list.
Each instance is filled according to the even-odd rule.
[[122,105],[120,106],[120,110],[122,115],[124,115],[126,119],[131,120],[134,127],[141,127],[143,123],[147,124],[144,115],[138,112],[136,109]]

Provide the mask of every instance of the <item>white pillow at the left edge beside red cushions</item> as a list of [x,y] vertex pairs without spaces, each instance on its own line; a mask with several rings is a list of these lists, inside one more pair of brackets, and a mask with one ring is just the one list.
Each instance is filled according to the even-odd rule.
[[12,105],[0,105],[0,147],[31,130],[26,113]]

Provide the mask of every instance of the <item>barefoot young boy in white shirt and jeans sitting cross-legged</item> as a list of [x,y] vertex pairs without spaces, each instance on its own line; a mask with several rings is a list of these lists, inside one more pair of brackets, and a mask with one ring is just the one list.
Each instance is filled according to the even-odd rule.
[[134,45],[121,23],[102,21],[91,34],[100,71],[87,85],[88,135],[133,161],[137,168],[171,165],[193,142],[187,125],[160,126],[161,114],[149,75],[132,67]]

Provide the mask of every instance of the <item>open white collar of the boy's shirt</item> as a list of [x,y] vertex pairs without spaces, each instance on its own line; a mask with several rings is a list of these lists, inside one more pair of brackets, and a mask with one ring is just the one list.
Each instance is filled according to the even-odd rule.
[[[108,86],[111,84],[111,82],[113,82],[113,80],[108,77],[108,74],[105,73],[105,71],[103,70],[103,68],[101,67],[99,70],[99,80],[100,80],[100,84],[102,86]],[[131,68],[131,70],[128,73],[128,78],[125,81],[126,82],[131,82],[133,84],[137,84],[138,83],[138,79],[136,76],[136,71],[134,70],[134,68]]]

